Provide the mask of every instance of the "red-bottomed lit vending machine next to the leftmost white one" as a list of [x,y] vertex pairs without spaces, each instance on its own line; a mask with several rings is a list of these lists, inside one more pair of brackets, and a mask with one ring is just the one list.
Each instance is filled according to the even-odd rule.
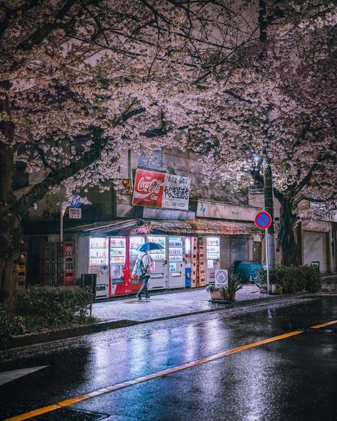
[[124,279],[124,265],[127,257],[125,237],[110,237],[110,296],[127,294],[127,279]]

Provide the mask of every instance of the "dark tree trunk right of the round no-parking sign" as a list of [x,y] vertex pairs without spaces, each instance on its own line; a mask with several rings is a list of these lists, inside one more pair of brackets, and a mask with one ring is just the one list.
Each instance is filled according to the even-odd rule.
[[294,235],[294,225],[296,223],[296,215],[292,211],[292,202],[281,201],[279,213],[279,246],[282,251],[282,265],[297,265],[297,249]]

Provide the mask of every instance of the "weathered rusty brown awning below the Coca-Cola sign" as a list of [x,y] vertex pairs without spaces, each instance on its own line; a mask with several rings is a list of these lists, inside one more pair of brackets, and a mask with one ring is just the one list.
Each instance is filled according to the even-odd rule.
[[231,220],[140,220],[139,226],[131,228],[131,235],[250,235],[257,233],[254,223]]

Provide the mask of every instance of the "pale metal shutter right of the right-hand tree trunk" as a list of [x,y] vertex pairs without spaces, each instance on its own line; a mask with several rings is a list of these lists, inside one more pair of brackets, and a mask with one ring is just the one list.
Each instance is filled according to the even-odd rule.
[[326,260],[326,233],[304,231],[304,265],[319,262],[320,272],[328,270]]

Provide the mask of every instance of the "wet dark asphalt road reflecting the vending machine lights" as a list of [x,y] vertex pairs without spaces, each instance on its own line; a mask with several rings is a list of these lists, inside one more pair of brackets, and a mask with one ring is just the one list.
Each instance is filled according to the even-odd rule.
[[[0,420],[293,331],[30,420],[335,420],[336,297],[200,314],[0,353]],[[73,401],[72,401],[73,403]],[[20,418],[14,418],[19,420]]]

